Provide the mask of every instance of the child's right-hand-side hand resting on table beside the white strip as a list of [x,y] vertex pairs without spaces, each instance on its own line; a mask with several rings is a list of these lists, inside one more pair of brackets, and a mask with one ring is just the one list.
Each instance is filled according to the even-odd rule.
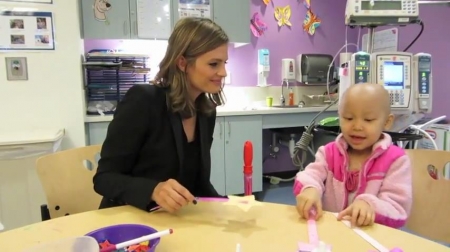
[[375,223],[375,211],[364,200],[355,200],[338,214],[338,220],[349,220],[354,226],[370,226]]

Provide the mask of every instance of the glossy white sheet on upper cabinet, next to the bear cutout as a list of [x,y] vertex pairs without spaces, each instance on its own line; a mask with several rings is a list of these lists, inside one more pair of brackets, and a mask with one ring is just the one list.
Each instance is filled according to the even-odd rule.
[[170,0],[137,0],[137,33],[142,39],[168,39],[171,33]]

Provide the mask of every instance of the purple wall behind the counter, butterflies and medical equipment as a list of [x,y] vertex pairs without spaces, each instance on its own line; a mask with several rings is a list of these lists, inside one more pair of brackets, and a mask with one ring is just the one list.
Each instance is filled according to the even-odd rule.
[[[309,36],[302,29],[305,7],[302,1],[278,0],[276,6],[291,5],[292,28],[278,28],[273,16],[273,1],[266,7],[262,0],[252,0],[252,13],[258,11],[269,30],[261,38],[252,37],[251,44],[239,48],[230,48],[229,70],[232,73],[233,86],[255,86],[257,82],[257,50],[270,50],[271,72],[268,82],[280,85],[281,59],[294,58],[300,53],[328,53],[334,54],[345,43],[344,10],[345,1],[313,1],[313,11],[322,19],[322,25],[316,35]],[[338,3],[339,2],[339,3]],[[425,30],[421,38],[411,47],[410,51],[428,52],[433,55],[434,101],[433,115],[446,114],[450,116],[447,95],[449,85],[445,82],[445,71],[449,69],[447,59],[450,58],[450,30],[438,29],[436,24],[450,24],[449,8],[443,6],[421,6],[420,15],[425,23]],[[248,24],[242,24],[248,25]],[[405,48],[418,33],[419,26],[399,27],[399,49]],[[367,31],[363,31],[365,33]],[[348,42],[356,42],[357,30],[348,29]],[[135,41],[146,51],[151,51],[149,41]],[[85,41],[85,50],[93,48],[117,48],[121,41]],[[352,48],[353,49],[353,48]],[[238,81],[236,81],[238,80]],[[269,146],[269,132],[264,132],[264,146]],[[264,147],[268,154],[268,148]],[[264,164],[264,172],[295,170],[286,147],[281,147],[277,159],[268,159]]]

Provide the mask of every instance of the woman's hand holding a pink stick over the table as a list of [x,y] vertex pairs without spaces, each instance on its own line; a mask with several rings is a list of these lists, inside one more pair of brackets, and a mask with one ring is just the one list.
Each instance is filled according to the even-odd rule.
[[178,181],[169,179],[155,187],[152,200],[169,213],[174,213],[189,202],[193,202],[195,198]]

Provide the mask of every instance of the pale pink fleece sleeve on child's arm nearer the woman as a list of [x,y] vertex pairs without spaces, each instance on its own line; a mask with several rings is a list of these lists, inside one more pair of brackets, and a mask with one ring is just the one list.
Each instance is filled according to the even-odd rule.
[[297,196],[308,187],[316,188],[320,195],[324,191],[324,181],[327,178],[327,161],[325,147],[321,146],[316,153],[316,160],[306,166],[304,171],[297,173],[294,182],[294,195]]

